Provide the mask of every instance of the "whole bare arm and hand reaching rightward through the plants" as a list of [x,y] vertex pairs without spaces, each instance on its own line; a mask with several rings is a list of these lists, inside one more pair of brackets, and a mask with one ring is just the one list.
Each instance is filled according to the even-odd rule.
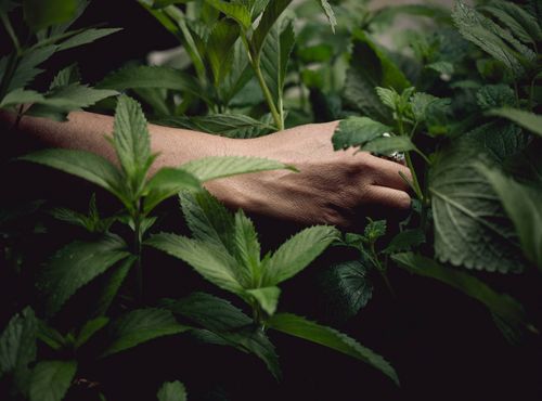
[[[14,115],[0,112],[3,124]],[[338,121],[306,125],[267,137],[241,140],[150,125],[151,146],[159,156],[153,165],[179,166],[206,156],[255,156],[295,166],[207,182],[205,186],[232,208],[301,224],[328,223],[348,228],[364,207],[406,209],[411,198],[402,172],[406,167],[356,150],[335,152],[332,135]],[[47,145],[85,150],[116,163],[104,139],[113,131],[113,117],[72,113],[66,122],[23,117],[23,133]]]

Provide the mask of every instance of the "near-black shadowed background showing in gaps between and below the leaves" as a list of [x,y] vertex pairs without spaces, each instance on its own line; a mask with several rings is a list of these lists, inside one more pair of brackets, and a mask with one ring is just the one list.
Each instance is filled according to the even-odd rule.
[[[152,50],[177,46],[176,39],[136,1],[93,0],[76,27],[100,23],[124,30],[56,55],[46,66],[50,73],[40,77],[39,86],[46,86],[54,72],[74,62],[79,64],[83,80],[92,83],[129,60],[141,60]],[[2,169],[2,176],[7,184],[2,193],[9,191],[12,202],[47,198],[51,204],[83,210],[90,193],[95,191],[79,180],[21,164],[10,164]],[[106,211],[112,208],[106,206],[111,200],[106,194],[99,192],[98,199]],[[176,202],[168,206],[177,208]],[[170,223],[175,230],[181,217],[171,212],[168,218],[175,222]],[[286,236],[283,224],[258,224],[263,243],[279,243]],[[73,234],[66,233],[65,228],[59,230],[59,236],[54,233],[53,230],[42,238],[35,255],[37,262],[48,249],[60,246]],[[199,345],[185,337],[159,339],[101,363],[89,363],[82,375],[99,381],[109,401],[153,400],[158,386],[173,379],[186,385],[192,401],[225,399],[220,394],[232,401],[542,400],[540,337],[527,336],[520,346],[508,345],[483,307],[437,282],[393,270],[390,281],[397,292],[395,297],[376,277],[376,292],[369,307],[348,322],[337,322],[325,312],[318,276],[331,263],[349,257],[354,256],[330,250],[312,269],[285,285],[281,306],[334,324],[383,354],[396,367],[401,389],[364,363],[280,334],[271,337],[281,358],[281,384],[254,357]],[[145,277],[151,297],[179,296],[193,288],[211,290],[191,270],[158,253],[147,251],[144,259],[152,268]],[[489,280],[496,288],[520,299],[541,326],[538,272],[527,273],[527,277],[492,275]],[[527,287],[525,283],[531,284]],[[2,289],[5,297],[35,301],[31,288]],[[70,397],[95,399],[95,392],[79,388]]]

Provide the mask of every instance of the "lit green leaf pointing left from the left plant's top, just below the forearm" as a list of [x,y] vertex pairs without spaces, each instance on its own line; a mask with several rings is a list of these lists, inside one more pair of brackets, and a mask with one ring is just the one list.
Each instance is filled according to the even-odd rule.
[[126,202],[122,178],[105,158],[90,152],[51,148],[20,157],[90,181]]

